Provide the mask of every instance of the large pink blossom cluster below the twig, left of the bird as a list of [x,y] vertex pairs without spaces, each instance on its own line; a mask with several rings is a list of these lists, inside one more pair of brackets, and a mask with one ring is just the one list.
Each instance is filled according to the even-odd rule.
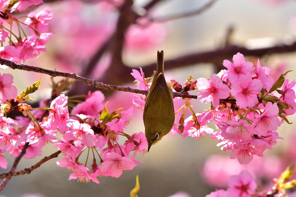
[[[1,153],[6,151],[17,157],[26,147],[24,157],[33,158],[41,154],[41,149],[47,143],[56,143],[54,147],[65,156],[57,161],[57,165],[67,167],[68,171],[73,172],[69,180],[78,178],[83,182],[93,180],[99,183],[96,177],[118,178],[123,170],[132,170],[137,166],[135,162],[141,162],[134,159],[137,153],[143,155],[147,152],[147,140],[143,132],[132,135],[123,132],[130,121],[128,118],[133,113],[133,106],[120,113],[118,111],[122,108],[108,113],[107,104],[102,104],[104,95],[95,91],[82,96],[85,101],[68,99],[64,94],[58,93],[51,102],[46,99],[40,103],[40,108],[32,109],[30,105],[20,102],[33,100],[29,94],[38,89],[40,80],[17,96],[17,89],[11,85],[12,79],[11,74],[1,76],[1,102],[7,100],[1,105]],[[75,102],[79,104],[75,105]],[[11,109],[20,111],[27,117],[18,116],[17,121],[7,118],[6,114]],[[69,109],[72,109],[72,114]],[[57,133],[62,137],[57,138]],[[118,143],[120,136],[126,138],[123,144]],[[86,166],[90,150],[93,153],[91,170]],[[79,157],[85,151],[88,151],[87,159],[81,161]],[[3,154],[0,154],[0,166],[7,167]]]

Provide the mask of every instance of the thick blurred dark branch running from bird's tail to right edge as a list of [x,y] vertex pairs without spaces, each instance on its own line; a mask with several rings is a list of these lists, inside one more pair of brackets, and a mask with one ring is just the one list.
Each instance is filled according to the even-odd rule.
[[[200,64],[200,63],[213,63],[215,65],[222,65],[224,59],[232,59],[233,55],[242,53],[244,56],[258,56],[261,57],[267,54],[273,53],[287,53],[296,51],[296,42],[291,45],[276,45],[270,48],[260,49],[247,49],[245,47],[237,45],[229,45],[222,49],[214,51],[192,53],[186,56],[181,56],[176,59],[165,61],[165,70],[179,68],[188,65]],[[145,75],[152,75],[156,68],[156,63],[141,66]],[[222,68],[222,67],[221,67]],[[218,69],[218,71],[221,70]]]

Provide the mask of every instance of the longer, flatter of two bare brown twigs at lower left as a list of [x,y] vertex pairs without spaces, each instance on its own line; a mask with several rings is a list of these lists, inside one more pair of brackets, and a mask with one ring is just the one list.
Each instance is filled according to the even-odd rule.
[[[12,176],[18,176],[18,175],[24,175],[24,174],[30,174],[33,170],[37,169],[38,167],[41,166],[41,164],[47,162],[50,159],[56,158],[58,157],[58,155],[61,153],[61,151],[57,151],[51,155],[49,155],[48,157],[44,157],[43,159],[41,159],[39,162],[37,162],[36,164],[32,165],[29,168],[24,168],[22,170],[9,170],[8,172],[2,173],[0,174],[0,179],[5,179],[5,178],[11,178]],[[2,191],[2,190],[1,190]]]

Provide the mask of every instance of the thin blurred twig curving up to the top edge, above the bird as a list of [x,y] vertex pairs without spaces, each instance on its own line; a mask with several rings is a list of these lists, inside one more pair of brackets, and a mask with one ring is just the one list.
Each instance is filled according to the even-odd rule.
[[167,22],[169,20],[174,20],[174,19],[180,19],[180,18],[184,18],[184,17],[195,16],[195,15],[201,14],[202,12],[205,12],[214,3],[216,3],[216,1],[218,1],[218,0],[210,0],[207,4],[205,4],[204,6],[202,6],[200,9],[197,9],[197,10],[194,10],[194,11],[191,11],[191,12],[186,12],[186,13],[182,13],[182,14],[171,15],[171,16],[167,16],[167,17],[151,18],[151,21],[154,21],[154,22]]

